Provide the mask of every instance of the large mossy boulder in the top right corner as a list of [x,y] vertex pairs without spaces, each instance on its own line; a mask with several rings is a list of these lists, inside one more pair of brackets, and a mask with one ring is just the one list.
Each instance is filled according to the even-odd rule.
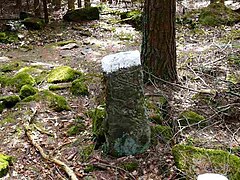
[[233,25],[240,21],[240,15],[222,3],[211,3],[201,9],[199,23],[208,26]]

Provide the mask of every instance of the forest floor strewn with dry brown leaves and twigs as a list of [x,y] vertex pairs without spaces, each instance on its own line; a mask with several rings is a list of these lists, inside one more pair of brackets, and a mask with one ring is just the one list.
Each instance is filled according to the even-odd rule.
[[[24,130],[29,116],[53,135],[36,130],[34,139],[44,151],[71,167],[79,179],[178,179],[184,174],[174,165],[171,147],[175,143],[224,150],[240,145],[240,24],[218,28],[199,25],[195,29],[177,25],[178,83],[160,85],[159,80],[153,79],[145,87],[150,100],[156,100],[159,94],[168,97],[169,119],[176,124],[173,138],[165,143],[159,138],[157,145],[136,156],[113,158],[101,150],[89,154],[88,147],[94,141],[91,118],[86,112],[101,105],[104,99],[101,59],[120,51],[140,50],[141,46],[141,32],[119,20],[119,16],[108,13],[103,13],[99,21],[86,23],[56,20],[44,30],[21,30],[19,43],[0,44],[1,65],[14,61],[48,68],[67,65],[91,76],[89,96],[73,96],[69,89],[56,91],[66,97],[71,111],[54,112],[44,104],[32,102],[22,106],[21,111],[14,107],[0,114],[0,152],[14,157],[10,173],[3,179],[67,179],[61,167],[44,160],[29,141]],[[69,49],[56,46],[57,42],[68,40],[74,40],[76,45]],[[44,88],[44,84],[40,86]],[[211,102],[199,99],[201,93]],[[1,89],[1,96],[9,94],[13,92]],[[179,114],[188,109],[204,116],[207,126],[179,125]],[[19,113],[15,121],[1,123],[16,111]],[[79,121],[85,129],[68,135],[68,129]],[[137,167],[126,168],[124,163],[128,162]]]

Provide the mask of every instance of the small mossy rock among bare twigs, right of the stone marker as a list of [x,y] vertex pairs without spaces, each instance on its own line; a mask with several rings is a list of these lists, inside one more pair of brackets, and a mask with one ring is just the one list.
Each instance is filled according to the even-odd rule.
[[191,110],[183,111],[179,115],[179,122],[181,126],[191,125],[195,123],[200,123],[202,126],[204,126],[205,124],[202,122],[204,120],[205,118],[202,115]]

